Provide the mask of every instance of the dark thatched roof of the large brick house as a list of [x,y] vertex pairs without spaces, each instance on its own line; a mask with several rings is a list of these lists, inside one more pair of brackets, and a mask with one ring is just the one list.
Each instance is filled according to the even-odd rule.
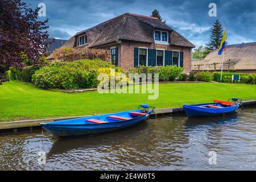
[[144,43],[153,43],[153,31],[165,30],[171,32],[170,44],[173,46],[195,47],[175,30],[160,22],[158,18],[137,14],[125,13],[97,26],[77,32],[63,47],[75,47],[77,36],[86,34],[88,47],[103,46],[117,43],[119,40],[132,40]]

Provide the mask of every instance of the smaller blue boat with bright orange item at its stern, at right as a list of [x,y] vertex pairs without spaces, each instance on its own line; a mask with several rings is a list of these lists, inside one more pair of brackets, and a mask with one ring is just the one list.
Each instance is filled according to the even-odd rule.
[[[233,113],[242,105],[240,98],[232,98],[230,101],[213,100],[213,103],[207,104],[195,104],[195,105],[183,105],[183,109],[188,117],[200,117],[209,115],[225,115],[227,113]],[[239,101],[239,102],[238,102]]]

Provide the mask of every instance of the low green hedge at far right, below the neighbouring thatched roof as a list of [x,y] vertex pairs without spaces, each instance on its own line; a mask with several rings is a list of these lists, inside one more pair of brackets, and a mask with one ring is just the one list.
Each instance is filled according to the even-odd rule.
[[[222,72],[222,82],[231,82],[232,75],[240,75],[240,82],[255,84],[255,73],[229,73]],[[220,82],[221,72],[215,72],[213,75],[213,80]]]

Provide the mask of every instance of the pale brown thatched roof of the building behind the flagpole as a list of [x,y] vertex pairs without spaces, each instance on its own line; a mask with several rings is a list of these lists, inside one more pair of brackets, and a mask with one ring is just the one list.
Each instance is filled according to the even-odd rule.
[[[197,70],[196,65],[200,65],[200,70],[214,70],[214,63],[217,63],[216,69],[221,70],[222,55],[218,55],[218,49],[210,52],[203,60],[192,60],[192,70]],[[224,57],[224,70],[251,70],[256,69],[256,42],[242,43],[226,46]]]

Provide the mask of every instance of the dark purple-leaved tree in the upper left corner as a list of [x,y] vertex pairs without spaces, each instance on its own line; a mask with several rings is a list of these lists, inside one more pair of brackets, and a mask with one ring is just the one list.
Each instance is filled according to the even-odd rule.
[[0,0],[0,65],[22,67],[21,53],[32,64],[38,63],[48,38],[48,19],[39,21],[39,10],[20,0]]

